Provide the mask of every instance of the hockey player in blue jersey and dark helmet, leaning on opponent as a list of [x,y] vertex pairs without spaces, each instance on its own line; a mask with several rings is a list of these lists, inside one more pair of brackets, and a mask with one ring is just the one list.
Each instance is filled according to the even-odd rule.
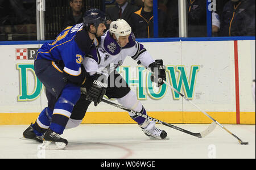
[[98,45],[106,29],[105,14],[96,8],[86,11],[83,19],[84,23],[65,28],[54,41],[43,44],[35,57],[35,73],[46,87],[48,107],[23,137],[45,141],[44,146],[49,141],[67,145],[60,135],[82,97],[80,86],[86,79],[82,60],[92,46]]

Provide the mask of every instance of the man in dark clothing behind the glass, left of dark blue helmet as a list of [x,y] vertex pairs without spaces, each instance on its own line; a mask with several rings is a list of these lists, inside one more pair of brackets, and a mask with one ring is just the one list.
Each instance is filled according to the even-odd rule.
[[63,23],[61,30],[67,28],[68,26],[82,23],[82,0],[69,0],[69,5],[72,11],[71,14],[63,18],[63,22],[61,22]]

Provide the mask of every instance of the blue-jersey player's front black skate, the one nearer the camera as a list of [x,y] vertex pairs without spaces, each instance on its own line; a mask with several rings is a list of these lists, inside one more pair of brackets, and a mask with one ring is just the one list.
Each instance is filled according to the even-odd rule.
[[43,144],[39,148],[45,150],[64,150],[67,145],[67,139],[61,138],[60,134],[48,129],[44,134]]

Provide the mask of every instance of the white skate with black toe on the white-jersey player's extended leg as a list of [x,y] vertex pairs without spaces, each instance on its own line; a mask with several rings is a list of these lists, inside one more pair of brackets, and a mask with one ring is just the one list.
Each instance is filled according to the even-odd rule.
[[[147,124],[146,128],[143,128],[143,126],[145,126],[145,124]],[[151,139],[165,139],[165,140],[169,139],[167,137],[166,131],[155,127],[154,121],[144,122],[141,125],[141,129],[144,132],[144,134],[146,134]]]

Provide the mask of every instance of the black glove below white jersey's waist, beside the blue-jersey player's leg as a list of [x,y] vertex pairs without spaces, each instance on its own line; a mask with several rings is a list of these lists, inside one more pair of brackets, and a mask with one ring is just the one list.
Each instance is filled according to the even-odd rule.
[[106,94],[106,88],[108,87],[108,84],[102,83],[98,77],[97,75],[93,76],[93,82],[86,92],[86,100],[94,101],[95,106],[101,102],[103,96]]

